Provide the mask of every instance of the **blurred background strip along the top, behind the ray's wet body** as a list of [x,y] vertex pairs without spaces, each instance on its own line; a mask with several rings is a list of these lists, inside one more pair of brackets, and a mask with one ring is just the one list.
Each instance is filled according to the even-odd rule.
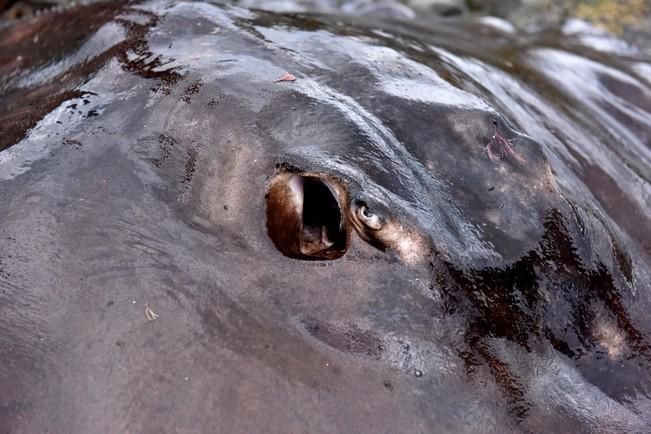
[[[97,0],[82,0],[92,2]],[[214,0],[213,0],[214,1]],[[385,20],[428,18],[459,20],[495,17],[496,24],[526,32],[581,20],[595,29],[624,39],[651,39],[651,0],[216,0],[277,12],[344,13]],[[79,0],[0,0],[0,21],[25,18]]]

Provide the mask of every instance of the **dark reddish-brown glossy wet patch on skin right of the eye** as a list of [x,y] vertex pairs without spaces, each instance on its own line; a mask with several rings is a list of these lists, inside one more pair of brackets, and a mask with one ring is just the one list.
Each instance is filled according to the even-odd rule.
[[[468,368],[472,372],[483,358],[496,374],[505,375],[499,359],[490,355],[486,338],[506,338],[527,351],[549,342],[609,396],[621,400],[636,386],[649,393],[648,385],[637,380],[627,384],[591,375],[610,366],[631,370],[635,379],[647,377],[651,352],[625,307],[631,294],[620,291],[604,264],[586,264],[579,258],[566,225],[558,210],[550,210],[539,247],[513,265],[464,271],[445,264],[438,273],[437,281],[447,288],[447,309],[471,312]],[[619,333],[617,349],[610,332],[602,329],[604,322]],[[505,387],[517,389],[513,384]]]

